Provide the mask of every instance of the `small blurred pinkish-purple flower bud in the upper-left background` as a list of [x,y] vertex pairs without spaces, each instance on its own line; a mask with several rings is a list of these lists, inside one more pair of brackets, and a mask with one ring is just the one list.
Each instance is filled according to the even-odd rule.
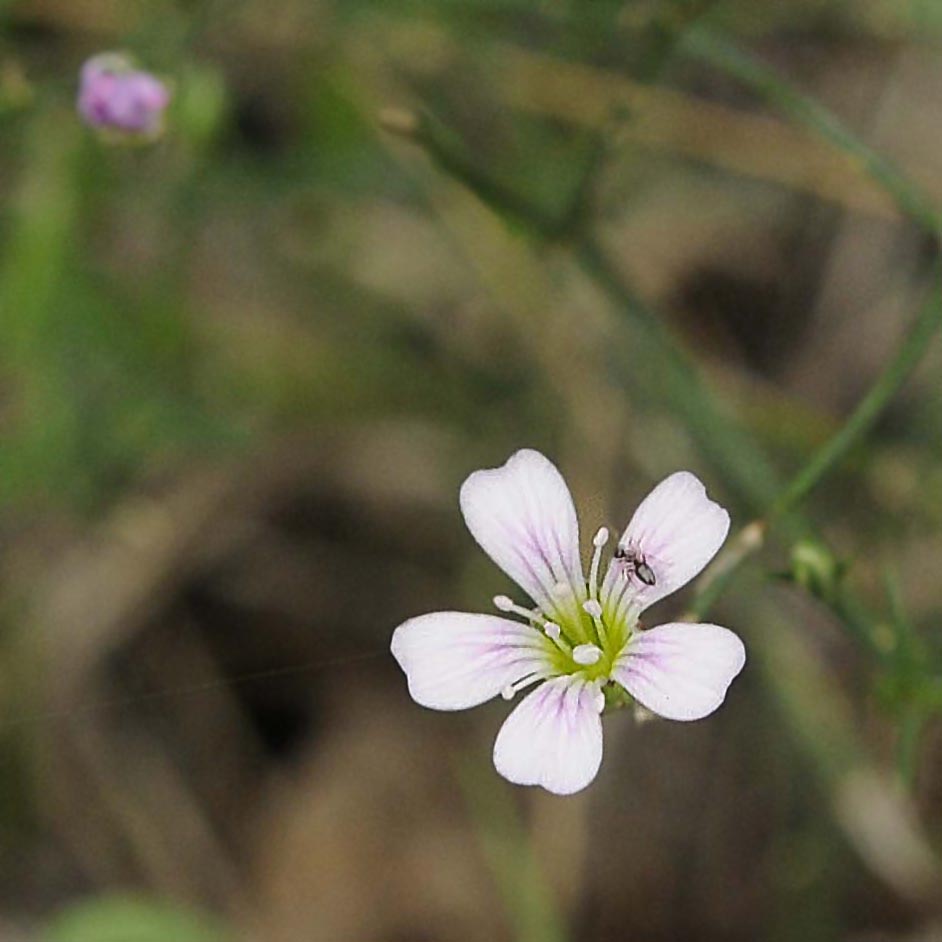
[[77,104],[93,128],[147,139],[163,129],[170,92],[160,79],[134,68],[123,53],[105,52],[82,66]]

